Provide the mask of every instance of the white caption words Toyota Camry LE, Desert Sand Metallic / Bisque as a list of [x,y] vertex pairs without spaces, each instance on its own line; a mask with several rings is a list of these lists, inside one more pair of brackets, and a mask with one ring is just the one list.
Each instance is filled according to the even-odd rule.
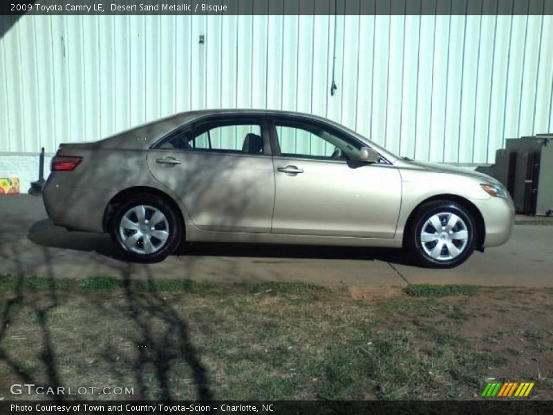
[[[212,5],[207,3],[180,4],[126,4],[95,3],[95,4],[41,4],[35,3],[38,12],[227,12],[226,5]],[[31,6],[32,7],[32,6]],[[31,9],[32,10],[32,9]],[[30,10],[29,10],[30,11]]]

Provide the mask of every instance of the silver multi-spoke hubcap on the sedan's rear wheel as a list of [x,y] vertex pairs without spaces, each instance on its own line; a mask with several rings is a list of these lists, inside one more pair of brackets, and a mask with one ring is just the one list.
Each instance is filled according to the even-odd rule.
[[149,205],[127,210],[119,223],[119,237],[124,247],[137,254],[158,252],[169,238],[165,214]]

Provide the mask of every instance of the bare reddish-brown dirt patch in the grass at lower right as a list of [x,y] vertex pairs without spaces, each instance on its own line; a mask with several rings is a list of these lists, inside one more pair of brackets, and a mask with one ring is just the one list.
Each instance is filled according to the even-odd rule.
[[[436,344],[458,344],[494,359],[482,378],[537,382],[536,394],[552,399],[553,291],[550,288],[480,288],[471,297],[382,302],[395,308],[379,328],[415,333],[417,347],[432,356]],[[462,346],[464,345],[464,346]]]

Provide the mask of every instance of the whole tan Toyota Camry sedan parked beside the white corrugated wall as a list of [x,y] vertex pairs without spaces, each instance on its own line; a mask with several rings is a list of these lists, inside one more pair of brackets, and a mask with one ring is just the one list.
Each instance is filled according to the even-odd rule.
[[109,232],[135,261],[182,239],[404,247],[420,264],[461,264],[514,222],[485,174],[397,158],[335,122],[300,113],[180,113],[92,143],[62,144],[48,216]]

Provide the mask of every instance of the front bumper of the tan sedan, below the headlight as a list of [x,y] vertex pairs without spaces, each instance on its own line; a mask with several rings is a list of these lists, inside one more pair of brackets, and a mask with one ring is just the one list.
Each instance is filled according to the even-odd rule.
[[486,236],[482,247],[499,246],[507,242],[514,225],[514,203],[510,196],[507,199],[490,197],[474,200],[473,203],[484,218]]

